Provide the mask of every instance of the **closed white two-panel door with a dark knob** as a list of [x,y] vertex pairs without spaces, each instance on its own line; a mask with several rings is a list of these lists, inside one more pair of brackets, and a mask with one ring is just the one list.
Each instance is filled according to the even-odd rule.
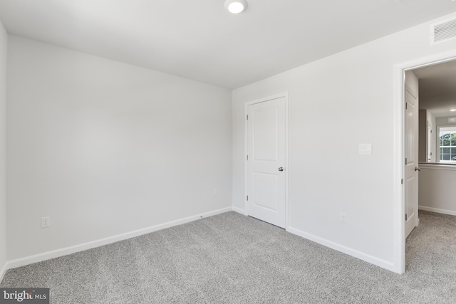
[[247,214],[286,226],[286,100],[247,107]]

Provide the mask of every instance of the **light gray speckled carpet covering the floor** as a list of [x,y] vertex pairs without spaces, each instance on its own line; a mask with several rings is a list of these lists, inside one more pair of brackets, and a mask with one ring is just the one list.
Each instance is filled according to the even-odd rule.
[[456,217],[420,211],[404,275],[227,212],[6,273],[51,303],[456,303]]

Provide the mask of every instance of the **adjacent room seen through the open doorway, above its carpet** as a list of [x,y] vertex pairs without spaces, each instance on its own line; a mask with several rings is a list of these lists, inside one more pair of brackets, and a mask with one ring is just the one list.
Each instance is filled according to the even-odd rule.
[[419,207],[456,215],[456,61],[413,70],[419,81]]

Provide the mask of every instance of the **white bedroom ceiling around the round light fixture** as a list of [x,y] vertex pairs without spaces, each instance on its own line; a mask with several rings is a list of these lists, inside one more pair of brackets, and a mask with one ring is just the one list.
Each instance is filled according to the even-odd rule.
[[6,31],[239,88],[456,11],[452,0],[0,0]]

